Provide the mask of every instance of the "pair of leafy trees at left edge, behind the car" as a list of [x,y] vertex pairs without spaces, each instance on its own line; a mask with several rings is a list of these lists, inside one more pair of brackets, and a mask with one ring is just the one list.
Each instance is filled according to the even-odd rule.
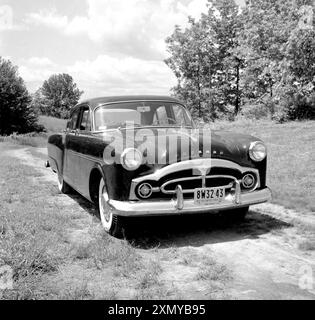
[[56,74],[31,95],[18,68],[0,57],[0,135],[41,132],[39,115],[66,119],[82,94],[70,75]]

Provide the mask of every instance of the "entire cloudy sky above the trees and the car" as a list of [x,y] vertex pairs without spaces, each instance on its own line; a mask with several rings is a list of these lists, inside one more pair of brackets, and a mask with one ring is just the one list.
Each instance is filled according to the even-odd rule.
[[0,0],[0,56],[31,93],[69,73],[84,99],[169,94],[165,39],[202,12],[207,0]]

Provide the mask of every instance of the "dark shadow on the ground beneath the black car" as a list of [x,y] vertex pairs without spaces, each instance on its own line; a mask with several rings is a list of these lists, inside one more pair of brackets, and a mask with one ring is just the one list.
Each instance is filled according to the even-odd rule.
[[[96,207],[78,193],[70,197],[93,217]],[[142,217],[123,220],[124,235],[133,246],[142,249],[156,247],[199,247],[205,244],[256,239],[292,225],[250,210],[244,221],[233,221],[233,212],[225,214],[192,214],[163,217]],[[101,223],[99,221],[99,223]]]

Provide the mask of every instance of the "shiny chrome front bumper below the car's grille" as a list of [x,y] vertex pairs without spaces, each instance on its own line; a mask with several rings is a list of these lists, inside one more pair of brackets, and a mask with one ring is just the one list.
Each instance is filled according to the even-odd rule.
[[217,213],[224,210],[248,207],[271,200],[269,188],[242,193],[238,196],[228,195],[222,202],[212,205],[196,205],[193,199],[184,200],[180,192],[173,200],[160,201],[116,201],[110,200],[109,204],[115,214],[125,217],[161,216],[191,213]]

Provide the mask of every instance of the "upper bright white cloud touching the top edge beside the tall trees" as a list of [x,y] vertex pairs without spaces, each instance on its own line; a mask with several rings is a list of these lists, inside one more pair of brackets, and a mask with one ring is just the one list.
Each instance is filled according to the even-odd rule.
[[55,28],[67,36],[87,36],[102,44],[106,53],[142,59],[165,57],[164,40],[174,26],[185,26],[188,16],[206,12],[207,0],[86,0],[84,16],[69,19],[56,10],[27,16],[27,23]]

